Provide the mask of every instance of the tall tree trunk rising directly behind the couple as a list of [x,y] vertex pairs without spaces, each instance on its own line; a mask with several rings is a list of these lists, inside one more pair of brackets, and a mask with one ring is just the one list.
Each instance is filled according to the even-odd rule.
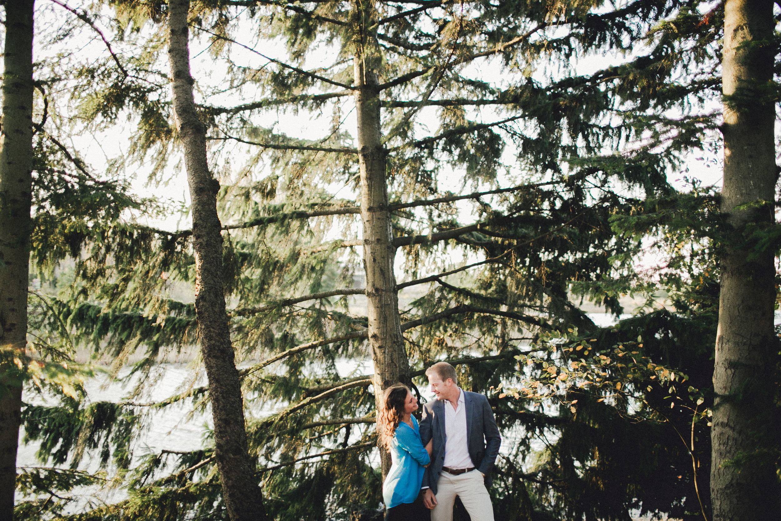
[[[363,262],[366,269],[369,346],[374,362],[377,406],[383,390],[394,383],[409,383],[409,364],[398,317],[394,275],[395,249],[388,207],[387,151],[382,143],[379,84],[380,56],[376,45],[377,13],[373,2],[355,2],[355,110],[358,116],[358,163],[361,171]],[[383,479],[391,456],[380,449]]]

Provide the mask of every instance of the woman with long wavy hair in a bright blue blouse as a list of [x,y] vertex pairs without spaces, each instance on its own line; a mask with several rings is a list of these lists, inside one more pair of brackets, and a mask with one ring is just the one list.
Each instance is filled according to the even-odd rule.
[[412,416],[418,401],[407,386],[388,387],[383,394],[380,444],[391,452],[393,465],[383,483],[385,521],[423,521],[429,511],[415,499],[423,483],[423,472],[431,461],[431,443],[423,447],[418,420]]

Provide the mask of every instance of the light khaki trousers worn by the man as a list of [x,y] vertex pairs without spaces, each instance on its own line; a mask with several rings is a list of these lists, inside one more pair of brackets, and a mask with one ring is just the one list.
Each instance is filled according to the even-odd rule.
[[483,474],[479,470],[464,472],[453,476],[442,472],[437,481],[437,506],[431,511],[431,521],[452,521],[455,497],[469,512],[472,521],[494,521],[494,506],[483,483]]

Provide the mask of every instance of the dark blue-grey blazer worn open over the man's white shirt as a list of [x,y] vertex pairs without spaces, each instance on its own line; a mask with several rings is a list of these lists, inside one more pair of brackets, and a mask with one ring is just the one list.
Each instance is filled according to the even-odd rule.
[[[490,472],[494,468],[494,462],[499,454],[499,445],[501,445],[499,428],[496,426],[494,413],[490,410],[486,397],[465,390],[461,392],[464,393],[466,406],[469,458],[472,458],[475,468],[485,474],[485,483],[488,487],[491,483]],[[447,406],[451,407],[451,404],[448,403]],[[423,445],[433,438],[431,465],[423,474],[423,487],[430,487],[434,494],[437,494],[437,481],[444,464],[444,408],[444,400],[424,404],[423,419],[420,420],[420,438],[423,440]]]

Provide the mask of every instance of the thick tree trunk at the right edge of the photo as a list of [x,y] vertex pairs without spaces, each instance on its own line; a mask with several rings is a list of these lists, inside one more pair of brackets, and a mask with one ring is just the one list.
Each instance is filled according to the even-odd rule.
[[713,521],[781,519],[775,465],[762,454],[763,444],[771,441],[774,409],[769,379],[777,346],[773,252],[750,259],[740,246],[747,226],[773,221],[776,112],[762,88],[773,72],[772,5],[772,0],[725,2],[722,212],[733,232],[722,256],[713,373]]

